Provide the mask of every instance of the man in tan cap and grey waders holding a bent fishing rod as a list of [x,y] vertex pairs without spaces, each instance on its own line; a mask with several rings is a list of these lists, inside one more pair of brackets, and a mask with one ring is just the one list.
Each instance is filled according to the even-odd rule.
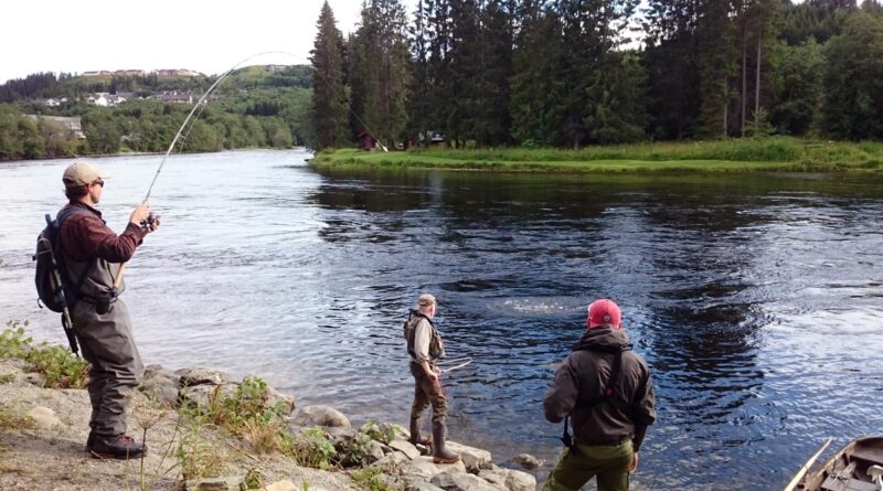
[[[119,300],[125,289],[115,280],[120,264],[131,259],[149,232],[147,204],[131,212],[126,230],[114,234],[95,205],[102,199],[107,174],[85,162],[67,167],[62,181],[70,203],[58,211],[61,222],[60,268],[70,289],[71,319],[83,357],[89,369],[92,402],[86,451],[100,459],[140,458],[147,447],[126,435],[127,394],[143,374],[143,364],[131,334],[131,320]],[[146,224],[146,225],[142,225]]]

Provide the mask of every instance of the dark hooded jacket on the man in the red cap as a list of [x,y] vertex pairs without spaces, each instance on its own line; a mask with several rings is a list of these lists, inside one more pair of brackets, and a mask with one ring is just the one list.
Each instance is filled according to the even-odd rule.
[[604,393],[615,352],[628,345],[621,329],[587,330],[555,373],[543,398],[545,418],[558,423],[571,416],[578,444],[609,445],[635,439],[636,451],[647,426],[656,420],[653,383],[647,363],[631,351],[623,352],[613,397],[589,403]]

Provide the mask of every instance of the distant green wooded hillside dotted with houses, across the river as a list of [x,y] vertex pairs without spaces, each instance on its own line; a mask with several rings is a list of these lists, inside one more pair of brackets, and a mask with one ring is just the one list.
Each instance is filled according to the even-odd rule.
[[[212,93],[209,104],[196,110],[175,151],[304,145],[311,138],[309,72],[306,66],[283,73],[265,73],[262,67],[251,67],[232,74]],[[65,90],[63,87],[83,87],[85,79],[62,76],[53,84],[50,78],[55,77],[52,74],[32,75],[25,78],[29,84],[17,85],[17,89],[28,92],[31,97],[60,97],[64,94],[60,92]],[[192,92],[195,103],[213,82],[211,78],[194,79],[190,85],[177,85],[172,89]],[[89,82],[93,85],[84,94],[100,88],[94,85],[99,83]],[[138,82],[135,87],[147,86]],[[77,95],[57,107],[47,107],[42,99],[32,98],[0,104],[0,160],[163,152],[193,107],[141,98],[114,107],[98,107],[87,104],[84,94],[74,94]],[[68,124],[53,119],[53,116],[79,118],[82,132],[78,135]]]

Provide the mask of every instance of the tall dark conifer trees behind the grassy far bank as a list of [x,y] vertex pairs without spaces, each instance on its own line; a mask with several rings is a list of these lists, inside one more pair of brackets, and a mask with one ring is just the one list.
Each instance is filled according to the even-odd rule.
[[[873,0],[366,0],[312,51],[317,147],[883,139]],[[350,110],[351,109],[351,110]]]

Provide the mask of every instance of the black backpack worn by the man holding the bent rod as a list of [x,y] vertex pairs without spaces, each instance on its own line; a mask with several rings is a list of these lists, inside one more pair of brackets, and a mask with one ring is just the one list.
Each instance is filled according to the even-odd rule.
[[36,273],[34,282],[36,285],[38,305],[45,306],[53,312],[62,312],[62,327],[71,351],[77,353],[76,338],[74,337],[73,325],[68,309],[76,305],[79,289],[83,281],[93,268],[95,260],[83,270],[76,284],[74,284],[65,267],[64,253],[62,252],[61,230],[62,222],[73,213],[81,210],[68,207],[58,212],[55,220],[47,214],[46,227],[36,236],[36,254],[33,259],[36,261]]

